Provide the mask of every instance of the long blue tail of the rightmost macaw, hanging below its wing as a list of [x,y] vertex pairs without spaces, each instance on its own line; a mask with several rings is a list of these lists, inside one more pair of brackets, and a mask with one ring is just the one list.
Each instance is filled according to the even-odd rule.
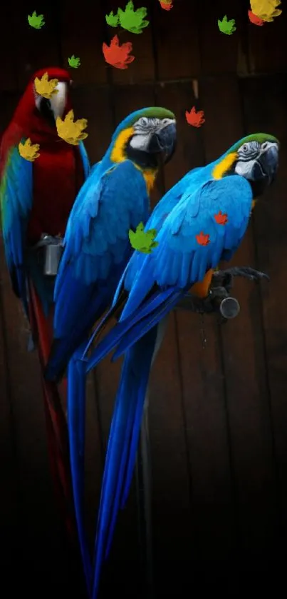
[[103,561],[110,551],[118,511],[122,505],[122,495],[127,496],[132,481],[156,336],[157,328],[154,328],[130,348],[122,366],[98,513],[93,599],[98,593]]

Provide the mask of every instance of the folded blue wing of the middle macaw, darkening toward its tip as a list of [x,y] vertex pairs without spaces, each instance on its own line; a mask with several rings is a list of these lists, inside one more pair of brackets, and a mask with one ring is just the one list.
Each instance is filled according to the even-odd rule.
[[131,253],[128,231],[146,221],[148,212],[145,180],[131,161],[100,178],[95,169],[85,181],[68,221],[56,278],[55,342],[47,376],[61,371],[110,305]]

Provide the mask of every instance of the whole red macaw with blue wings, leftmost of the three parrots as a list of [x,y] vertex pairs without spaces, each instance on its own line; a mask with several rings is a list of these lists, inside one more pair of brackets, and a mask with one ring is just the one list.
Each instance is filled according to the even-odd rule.
[[[36,91],[35,80],[44,74],[57,80],[50,99]],[[38,349],[55,490],[68,533],[77,543],[66,416],[57,386],[43,378],[53,334],[55,277],[43,273],[41,256],[48,236],[53,240],[63,237],[75,197],[90,169],[83,142],[73,146],[57,134],[57,117],[71,110],[70,86],[68,71],[58,67],[40,69],[28,82],[1,137],[0,209],[11,286],[28,318],[32,348]],[[34,160],[21,153],[27,142],[38,144]]]

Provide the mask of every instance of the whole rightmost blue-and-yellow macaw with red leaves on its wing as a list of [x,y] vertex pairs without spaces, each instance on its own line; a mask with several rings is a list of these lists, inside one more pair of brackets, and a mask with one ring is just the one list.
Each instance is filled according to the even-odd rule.
[[167,316],[187,293],[206,298],[212,273],[239,247],[258,198],[275,176],[278,140],[252,134],[220,158],[189,171],[162,197],[145,224],[155,228],[151,253],[132,253],[110,311],[93,333],[95,341],[113,315],[118,322],[82,359],[88,373],[114,348],[124,355],[115,398],[98,510],[92,598],[98,595],[118,510],[125,507],[135,466],[150,369],[165,333]]

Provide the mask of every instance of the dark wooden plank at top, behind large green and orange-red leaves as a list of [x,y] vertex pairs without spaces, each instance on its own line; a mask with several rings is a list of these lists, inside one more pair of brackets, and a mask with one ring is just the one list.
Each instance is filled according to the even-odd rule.
[[[125,9],[127,0],[119,2],[118,0],[108,0],[104,3],[104,18],[105,14],[110,14],[113,11],[117,14],[118,7],[122,10]],[[145,20],[151,21],[152,19],[152,0],[135,0],[134,10],[139,9],[141,6],[146,6],[147,16]],[[106,44],[110,44],[110,40],[118,35],[120,45],[127,41],[132,42],[132,56],[135,56],[135,60],[130,63],[127,69],[115,69],[113,66],[108,67],[113,74],[113,81],[115,84],[135,84],[143,83],[154,79],[155,67],[152,60],[152,29],[151,24],[142,30],[141,34],[132,34],[130,31],[126,31],[121,27],[113,28],[107,25],[105,30],[105,41]],[[103,43],[102,41],[102,43]],[[104,60],[104,58],[103,58]],[[132,89],[130,90],[132,91]]]

